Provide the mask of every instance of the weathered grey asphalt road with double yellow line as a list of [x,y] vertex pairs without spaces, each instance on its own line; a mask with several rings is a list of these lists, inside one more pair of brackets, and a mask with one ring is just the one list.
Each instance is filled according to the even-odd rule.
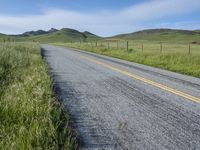
[[200,149],[200,79],[41,46],[79,149]]

